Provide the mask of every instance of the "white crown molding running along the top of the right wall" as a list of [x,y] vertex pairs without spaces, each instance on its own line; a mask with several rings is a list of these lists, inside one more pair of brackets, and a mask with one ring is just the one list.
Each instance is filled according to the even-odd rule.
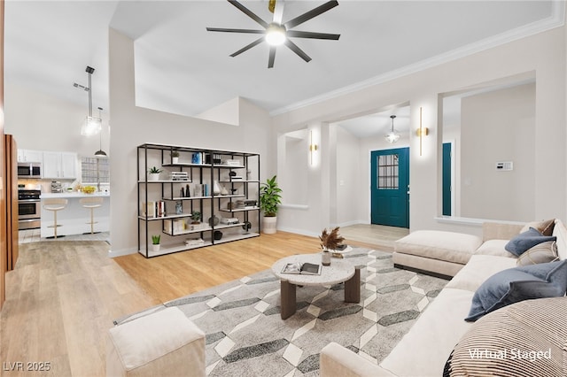
[[485,38],[481,41],[467,44],[458,49],[450,50],[444,54],[440,54],[436,57],[424,59],[415,64],[406,65],[404,67],[401,67],[400,69],[380,74],[378,76],[370,78],[369,80],[359,81],[343,88],[331,90],[330,92],[325,93],[321,96],[314,96],[308,98],[307,100],[296,102],[295,104],[283,106],[279,109],[269,112],[269,115],[271,117],[275,117],[276,115],[281,115],[286,112],[293,112],[309,105],[319,104],[323,101],[327,101],[338,96],[345,96],[364,88],[369,88],[386,81],[392,81],[394,79],[407,76],[411,73],[417,73],[459,58],[465,58],[480,51],[489,50],[494,47],[501,46],[502,44],[517,41],[531,35],[537,35],[551,30],[555,27],[563,27],[563,25],[565,24],[565,1],[553,1],[551,7],[551,15],[547,19],[541,19],[540,21],[532,22],[531,24],[524,25],[523,27],[517,27],[515,29],[501,33],[500,35],[493,35],[490,38]]

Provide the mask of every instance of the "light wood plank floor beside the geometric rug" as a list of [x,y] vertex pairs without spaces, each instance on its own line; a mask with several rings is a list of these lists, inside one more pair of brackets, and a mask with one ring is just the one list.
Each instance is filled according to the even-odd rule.
[[[288,255],[316,252],[319,240],[278,232],[151,259],[107,258],[107,250],[105,242],[20,245],[16,269],[6,275],[0,375],[105,375],[113,319],[260,272]],[[50,373],[5,370],[18,362],[24,368],[49,362]]]

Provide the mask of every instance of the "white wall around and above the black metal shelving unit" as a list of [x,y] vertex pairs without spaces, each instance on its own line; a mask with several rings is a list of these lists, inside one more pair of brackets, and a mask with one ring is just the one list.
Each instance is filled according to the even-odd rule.
[[260,179],[266,179],[273,165],[268,153],[271,131],[267,112],[240,99],[241,126],[235,127],[136,107],[134,43],[113,29],[109,65],[113,119],[111,256],[137,250],[136,146],[144,142],[257,152],[261,156]]

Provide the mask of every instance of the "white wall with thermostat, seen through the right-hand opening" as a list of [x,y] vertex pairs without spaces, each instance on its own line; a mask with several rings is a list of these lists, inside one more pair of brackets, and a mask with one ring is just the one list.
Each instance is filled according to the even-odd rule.
[[[462,98],[463,217],[535,219],[535,84]],[[514,170],[497,171],[497,161]]]

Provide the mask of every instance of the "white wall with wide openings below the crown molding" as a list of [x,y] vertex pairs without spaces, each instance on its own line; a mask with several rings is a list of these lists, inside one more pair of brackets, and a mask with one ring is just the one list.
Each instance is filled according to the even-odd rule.
[[[536,219],[558,217],[565,219],[567,204],[565,196],[565,174],[558,173],[556,165],[564,164],[565,158],[565,31],[558,27],[545,33],[485,50],[467,58],[438,65],[423,71],[392,80],[384,79],[376,85],[361,88],[352,93],[312,104],[298,110],[274,117],[275,132],[293,129],[299,124],[326,124],[337,119],[370,112],[390,104],[409,102],[412,130],[419,127],[419,108],[423,107],[423,126],[430,128],[430,135],[423,139],[423,156],[419,156],[419,140],[410,133],[410,228],[439,228],[478,233],[479,228],[467,225],[440,223],[436,217],[441,213],[441,143],[438,131],[438,96],[440,93],[469,88],[481,82],[493,81],[513,74],[535,71],[536,83],[536,132],[534,137],[535,164],[540,166],[534,177],[535,197],[533,213]],[[439,114],[439,117],[441,115]],[[324,127],[322,134],[325,133]],[[553,135],[550,137],[549,135]],[[323,139],[322,161],[330,144]],[[366,154],[366,151],[363,152]],[[297,212],[284,209],[279,227],[296,228],[301,218],[303,233],[319,234],[328,226],[330,216],[323,216],[316,207],[322,203],[325,193],[330,192],[327,163],[318,170],[309,170],[310,190],[321,193],[309,203],[309,209]],[[361,165],[368,160],[361,159]],[[368,171],[368,168],[366,169]],[[325,179],[311,179],[323,175]],[[364,198],[361,197],[361,202]],[[328,205],[328,204],[325,204]]]

